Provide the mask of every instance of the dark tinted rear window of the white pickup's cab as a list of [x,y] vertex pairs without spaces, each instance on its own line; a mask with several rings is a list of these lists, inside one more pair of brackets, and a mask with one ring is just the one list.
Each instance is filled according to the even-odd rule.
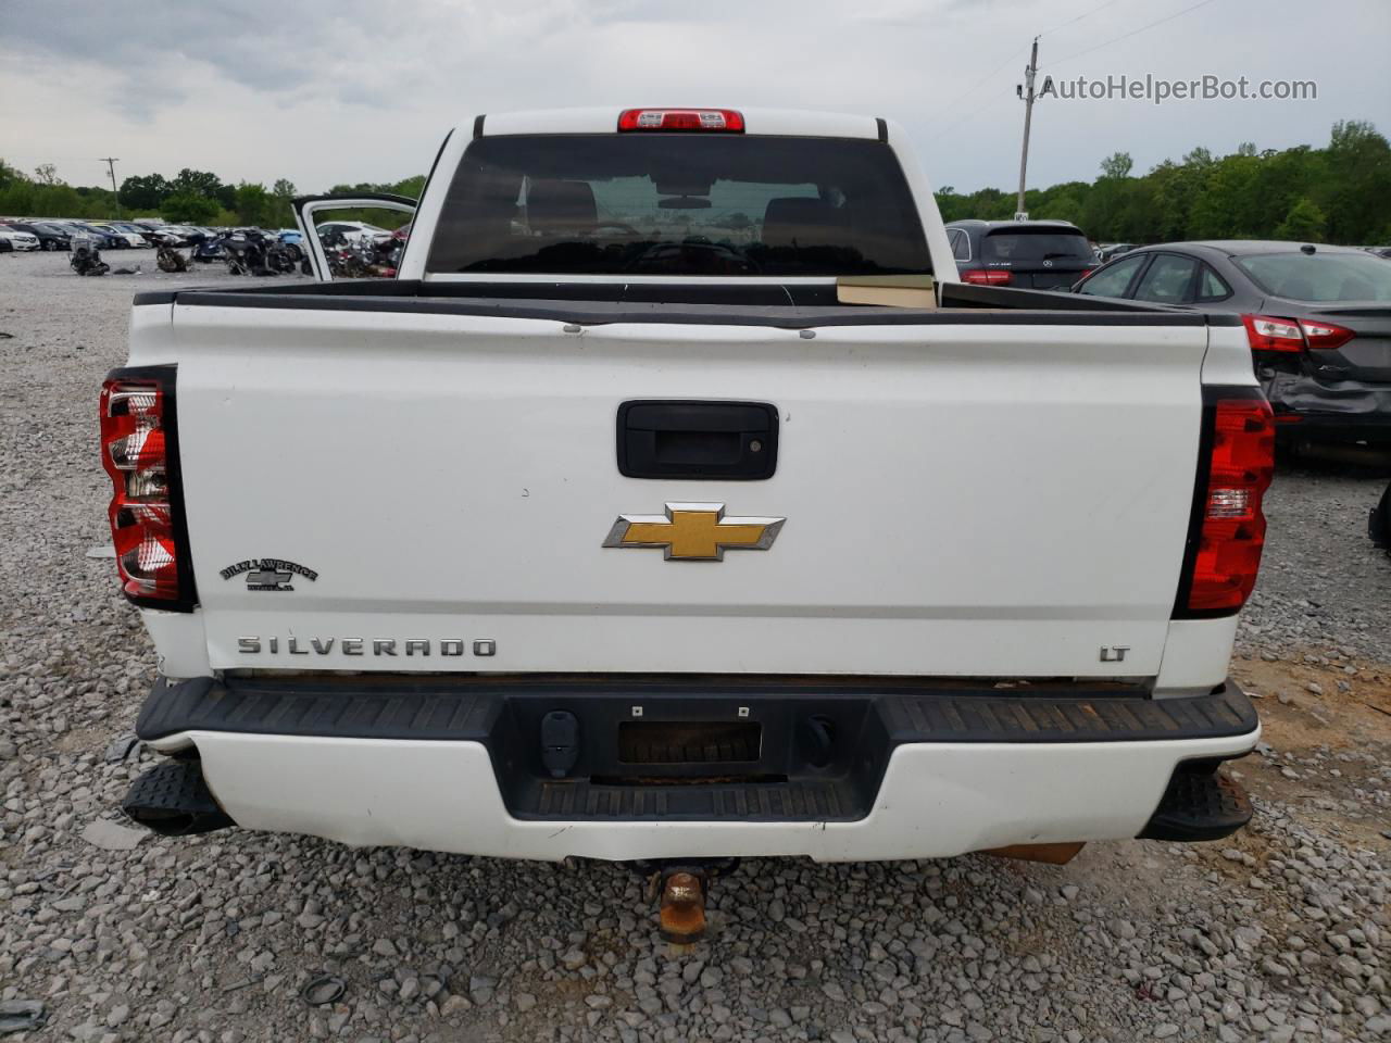
[[499,135],[469,145],[431,273],[931,274],[881,142],[700,134]]

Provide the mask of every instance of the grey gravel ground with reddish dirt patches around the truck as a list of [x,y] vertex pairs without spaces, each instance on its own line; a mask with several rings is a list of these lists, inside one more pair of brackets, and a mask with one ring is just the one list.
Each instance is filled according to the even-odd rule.
[[[1366,473],[1276,484],[1235,663],[1263,697],[1238,768],[1257,818],[1216,846],[746,862],[677,951],[611,865],[121,829],[154,761],[120,741],[153,656],[86,556],[107,541],[96,392],[132,291],[210,275],[111,260],[146,274],[0,256],[0,1001],[47,1015],[15,1039],[1391,1039],[1391,560]],[[300,998],[319,973],[339,1001]]]

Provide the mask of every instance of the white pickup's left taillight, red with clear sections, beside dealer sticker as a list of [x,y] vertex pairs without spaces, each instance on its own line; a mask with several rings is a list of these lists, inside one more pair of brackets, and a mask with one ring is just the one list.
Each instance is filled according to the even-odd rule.
[[178,484],[174,370],[115,370],[102,385],[102,466],[111,476],[111,545],[125,597],[189,612],[193,574]]

